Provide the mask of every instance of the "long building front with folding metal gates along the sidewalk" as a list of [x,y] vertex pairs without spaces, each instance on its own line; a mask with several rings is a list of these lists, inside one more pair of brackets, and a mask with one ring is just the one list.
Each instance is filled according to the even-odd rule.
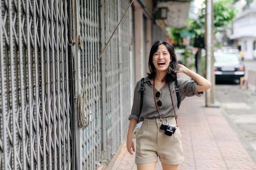
[[[111,161],[151,44],[166,37],[168,18],[155,19],[161,3],[169,2],[1,0],[0,169],[96,170]],[[172,16],[183,7],[175,4]]]

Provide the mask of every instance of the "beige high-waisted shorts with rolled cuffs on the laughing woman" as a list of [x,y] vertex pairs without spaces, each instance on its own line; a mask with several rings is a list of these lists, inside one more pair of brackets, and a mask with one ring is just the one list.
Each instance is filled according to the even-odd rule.
[[[174,117],[163,118],[169,124],[176,125]],[[184,161],[180,128],[171,136],[159,130],[160,119],[144,119],[136,137],[135,163],[151,163],[159,160],[177,165]]]

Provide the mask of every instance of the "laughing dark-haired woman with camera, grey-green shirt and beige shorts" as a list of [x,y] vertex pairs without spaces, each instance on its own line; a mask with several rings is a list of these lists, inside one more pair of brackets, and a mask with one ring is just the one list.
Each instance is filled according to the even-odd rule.
[[[159,160],[163,170],[178,170],[184,161],[180,129],[177,126],[177,96],[175,80],[177,73],[185,73],[193,80],[177,79],[179,99],[202,96],[211,83],[178,64],[174,48],[168,42],[156,41],[150,50],[149,73],[144,79],[143,104],[141,106],[141,81],[134,91],[130,125],[127,133],[127,150],[135,152],[132,133],[140,121],[141,128],[136,136],[135,163],[138,170],[155,170]],[[142,108],[141,108],[142,107]]]

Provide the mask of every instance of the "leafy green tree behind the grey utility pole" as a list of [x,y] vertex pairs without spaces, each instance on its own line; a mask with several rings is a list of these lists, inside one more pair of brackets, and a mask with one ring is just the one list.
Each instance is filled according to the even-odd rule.
[[[232,0],[213,0],[213,32],[223,32],[224,27],[231,26],[232,20],[235,18],[237,10],[232,8]],[[201,49],[205,47],[205,14],[206,14],[206,1],[202,3],[202,8],[198,12],[196,18],[188,18],[186,26],[182,29],[171,29],[170,32],[175,34],[170,34],[171,38],[175,35],[175,40],[177,40],[178,31],[189,31],[193,33],[193,46],[198,48],[198,53],[195,56],[195,65],[199,74],[202,75],[202,62],[201,62]],[[180,37],[181,38],[181,37]]]

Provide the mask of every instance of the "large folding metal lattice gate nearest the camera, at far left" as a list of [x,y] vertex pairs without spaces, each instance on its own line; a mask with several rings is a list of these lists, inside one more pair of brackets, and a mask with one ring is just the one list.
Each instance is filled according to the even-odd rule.
[[67,0],[0,0],[0,169],[71,170]]

